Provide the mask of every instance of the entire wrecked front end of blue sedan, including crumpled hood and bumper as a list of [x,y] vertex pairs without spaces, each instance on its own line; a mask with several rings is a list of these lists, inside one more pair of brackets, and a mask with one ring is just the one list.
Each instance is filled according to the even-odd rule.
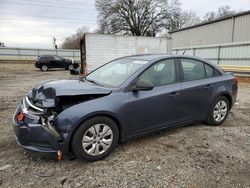
[[57,116],[76,104],[110,92],[79,80],[49,81],[36,86],[21,100],[13,116],[18,144],[28,150],[55,154],[61,159],[62,153],[69,153],[65,141],[70,129],[61,127],[64,122],[58,121]]

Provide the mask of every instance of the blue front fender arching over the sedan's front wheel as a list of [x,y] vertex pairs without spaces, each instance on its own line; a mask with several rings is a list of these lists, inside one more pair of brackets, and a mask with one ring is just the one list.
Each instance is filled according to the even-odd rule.
[[118,99],[119,97],[112,96],[111,98],[110,96],[106,96],[82,102],[64,110],[56,117],[55,125],[64,139],[66,152],[68,152],[70,140],[74,131],[84,120],[90,117],[96,115],[113,117],[119,122],[119,128],[121,128],[122,118],[119,115],[121,100]]

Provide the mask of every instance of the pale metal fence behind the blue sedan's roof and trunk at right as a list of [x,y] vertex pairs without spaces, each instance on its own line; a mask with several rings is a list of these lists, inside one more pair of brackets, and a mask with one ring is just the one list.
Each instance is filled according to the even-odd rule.
[[250,42],[174,48],[174,54],[197,56],[234,72],[250,72]]

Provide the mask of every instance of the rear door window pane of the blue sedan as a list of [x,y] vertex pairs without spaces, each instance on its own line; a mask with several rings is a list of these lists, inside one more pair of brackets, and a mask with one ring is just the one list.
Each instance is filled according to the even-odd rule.
[[204,63],[194,59],[181,59],[184,81],[206,78]]

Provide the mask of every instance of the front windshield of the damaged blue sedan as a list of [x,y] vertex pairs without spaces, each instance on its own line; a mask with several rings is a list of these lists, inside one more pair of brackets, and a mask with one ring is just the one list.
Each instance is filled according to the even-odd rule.
[[90,73],[86,80],[107,87],[119,87],[146,63],[142,60],[117,59]]

